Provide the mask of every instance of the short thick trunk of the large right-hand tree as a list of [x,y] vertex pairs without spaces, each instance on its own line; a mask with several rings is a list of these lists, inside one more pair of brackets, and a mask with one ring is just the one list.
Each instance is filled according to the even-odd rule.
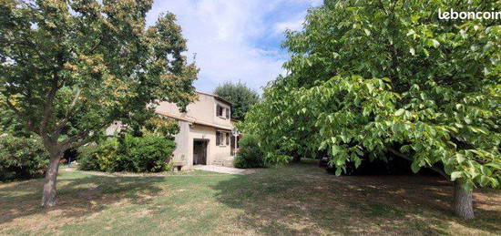
[[474,219],[473,190],[465,190],[463,181],[454,181],[454,211],[455,215],[464,219]]

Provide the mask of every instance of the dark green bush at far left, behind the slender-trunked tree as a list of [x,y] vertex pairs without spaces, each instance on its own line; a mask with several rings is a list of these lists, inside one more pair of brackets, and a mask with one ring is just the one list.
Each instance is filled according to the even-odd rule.
[[0,138],[0,180],[27,180],[45,174],[49,155],[34,138]]

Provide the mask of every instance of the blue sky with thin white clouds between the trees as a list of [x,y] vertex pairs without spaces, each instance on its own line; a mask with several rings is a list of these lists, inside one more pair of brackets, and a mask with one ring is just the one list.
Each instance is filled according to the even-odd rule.
[[283,31],[300,30],[306,11],[322,0],[156,0],[148,25],[167,11],[177,15],[200,68],[195,87],[212,92],[224,81],[261,87],[283,73]]

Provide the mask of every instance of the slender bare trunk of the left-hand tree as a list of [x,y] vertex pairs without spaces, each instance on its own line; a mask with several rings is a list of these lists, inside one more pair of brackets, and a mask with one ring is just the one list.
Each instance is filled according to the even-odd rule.
[[42,206],[56,206],[56,179],[59,169],[60,152],[50,153],[50,163],[46,171],[46,180],[44,181],[44,196],[42,197]]

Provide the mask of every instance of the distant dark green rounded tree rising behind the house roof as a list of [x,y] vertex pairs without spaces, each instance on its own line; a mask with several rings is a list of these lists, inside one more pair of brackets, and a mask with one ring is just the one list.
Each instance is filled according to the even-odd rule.
[[240,81],[237,83],[225,82],[223,85],[216,87],[213,94],[233,103],[231,118],[239,120],[245,118],[245,113],[260,99],[256,91]]

